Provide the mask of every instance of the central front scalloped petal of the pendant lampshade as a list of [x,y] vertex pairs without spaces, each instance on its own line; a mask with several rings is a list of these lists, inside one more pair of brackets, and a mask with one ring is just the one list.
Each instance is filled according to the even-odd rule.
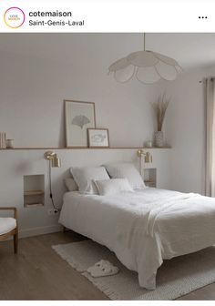
[[158,82],[160,79],[160,76],[154,66],[138,67],[136,76],[138,81],[145,84],[153,84]]

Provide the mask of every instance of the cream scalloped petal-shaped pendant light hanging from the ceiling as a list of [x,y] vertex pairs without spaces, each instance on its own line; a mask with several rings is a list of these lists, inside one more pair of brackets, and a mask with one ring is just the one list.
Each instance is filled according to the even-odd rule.
[[156,83],[160,78],[172,81],[182,71],[175,59],[146,50],[145,39],[144,33],[143,51],[133,52],[109,66],[109,73],[112,73],[118,82],[128,82],[133,76],[145,84]]

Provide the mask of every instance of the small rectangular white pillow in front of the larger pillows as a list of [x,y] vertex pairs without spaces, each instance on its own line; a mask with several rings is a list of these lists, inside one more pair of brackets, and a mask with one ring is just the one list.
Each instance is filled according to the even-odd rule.
[[94,180],[98,193],[101,196],[110,196],[119,192],[134,192],[128,183],[128,179]]

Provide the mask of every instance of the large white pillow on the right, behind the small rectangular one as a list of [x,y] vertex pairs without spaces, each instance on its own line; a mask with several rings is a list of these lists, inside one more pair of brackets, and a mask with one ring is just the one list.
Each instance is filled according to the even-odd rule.
[[115,163],[105,165],[107,172],[112,179],[128,179],[132,189],[145,189],[146,185],[138,169],[132,163]]

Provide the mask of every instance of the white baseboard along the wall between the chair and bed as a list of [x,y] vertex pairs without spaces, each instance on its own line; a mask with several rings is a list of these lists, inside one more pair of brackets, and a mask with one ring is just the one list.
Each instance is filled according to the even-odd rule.
[[34,228],[28,230],[19,230],[19,238],[26,238],[31,236],[38,236],[43,234],[49,234],[57,231],[62,231],[63,227],[60,224],[50,225],[42,228]]

